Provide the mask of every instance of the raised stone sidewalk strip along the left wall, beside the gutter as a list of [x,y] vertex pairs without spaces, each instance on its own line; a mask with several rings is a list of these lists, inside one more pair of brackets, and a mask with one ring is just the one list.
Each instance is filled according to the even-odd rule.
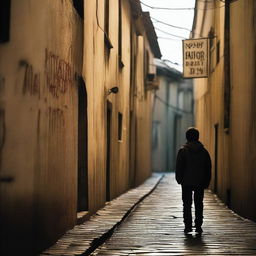
[[40,255],[89,255],[153,192],[162,178],[161,174],[153,174],[139,187],[106,204],[88,221],[69,230],[56,244]]

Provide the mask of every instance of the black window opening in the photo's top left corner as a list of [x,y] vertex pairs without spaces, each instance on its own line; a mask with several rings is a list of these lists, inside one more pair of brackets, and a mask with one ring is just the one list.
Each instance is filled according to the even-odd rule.
[[10,40],[11,0],[0,1],[0,43]]

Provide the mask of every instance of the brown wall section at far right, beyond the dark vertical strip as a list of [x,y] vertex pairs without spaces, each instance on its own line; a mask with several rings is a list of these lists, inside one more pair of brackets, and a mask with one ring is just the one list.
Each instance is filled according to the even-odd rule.
[[255,2],[231,5],[231,152],[232,207],[256,221],[255,172]]

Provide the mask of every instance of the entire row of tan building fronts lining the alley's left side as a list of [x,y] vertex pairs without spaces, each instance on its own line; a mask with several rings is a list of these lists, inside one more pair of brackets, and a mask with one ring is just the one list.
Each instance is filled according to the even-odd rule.
[[0,10],[1,250],[35,254],[151,175],[161,53],[139,1]]

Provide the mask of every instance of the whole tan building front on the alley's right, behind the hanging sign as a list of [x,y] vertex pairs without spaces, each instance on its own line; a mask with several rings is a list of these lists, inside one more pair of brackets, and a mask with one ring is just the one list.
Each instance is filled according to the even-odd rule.
[[253,0],[197,1],[192,37],[209,38],[209,76],[195,79],[196,125],[211,152],[211,188],[256,221]]

